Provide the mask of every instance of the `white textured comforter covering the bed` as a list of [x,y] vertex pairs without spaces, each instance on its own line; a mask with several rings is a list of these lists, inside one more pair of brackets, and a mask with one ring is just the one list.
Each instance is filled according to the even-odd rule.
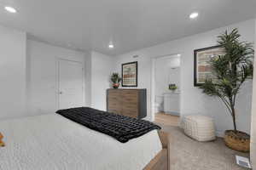
[[157,131],[122,144],[57,114],[0,122],[1,170],[140,170],[161,150]]

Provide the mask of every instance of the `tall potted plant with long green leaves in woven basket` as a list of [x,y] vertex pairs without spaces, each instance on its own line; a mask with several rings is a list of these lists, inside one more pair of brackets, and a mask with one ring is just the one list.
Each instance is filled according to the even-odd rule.
[[218,36],[218,44],[224,48],[225,54],[210,60],[216,78],[207,79],[200,88],[203,93],[221,99],[230,112],[234,129],[225,131],[225,144],[233,150],[248,151],[250,136],[236,127],[236,97],[241,85],[253,77],[254,51],[252,43],[241,42],[239,37],[237,29]]

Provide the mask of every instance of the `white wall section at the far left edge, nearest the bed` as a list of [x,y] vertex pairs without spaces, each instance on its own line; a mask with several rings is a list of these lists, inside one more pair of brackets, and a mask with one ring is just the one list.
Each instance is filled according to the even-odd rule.
[[0,119],[26,115],[26,32],[0,26]]

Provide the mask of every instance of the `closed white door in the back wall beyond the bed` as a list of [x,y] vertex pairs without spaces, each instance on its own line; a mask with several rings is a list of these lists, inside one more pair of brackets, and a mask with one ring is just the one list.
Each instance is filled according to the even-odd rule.
[[81,62],[59,59],[59,109],[84,105],[84,67]]

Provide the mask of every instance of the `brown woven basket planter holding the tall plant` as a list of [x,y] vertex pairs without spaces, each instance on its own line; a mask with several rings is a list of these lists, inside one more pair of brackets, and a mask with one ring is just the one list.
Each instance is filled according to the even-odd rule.
[[237,131],[237,134],[233,130],[225,131],[224,135],[225,144],[232,150],[248,152],[250,150],[250,135]]

